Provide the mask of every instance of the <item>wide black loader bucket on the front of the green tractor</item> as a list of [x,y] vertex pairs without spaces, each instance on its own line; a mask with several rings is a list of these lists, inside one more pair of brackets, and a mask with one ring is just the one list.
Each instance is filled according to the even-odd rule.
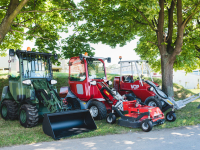
[[55,140],[97,129],[89,110],[45,114],[42,127]]

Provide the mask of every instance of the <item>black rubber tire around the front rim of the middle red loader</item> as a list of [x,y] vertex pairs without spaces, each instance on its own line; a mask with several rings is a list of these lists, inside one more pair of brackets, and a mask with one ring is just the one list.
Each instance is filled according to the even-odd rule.
[[102,102],[99,102],[99,101],[92,101],[89,105],[89,108],[91,106],[96,106],[98,108],[98,115],[97,117],[95,117],[94,119],[95,120],[103,120],[106,118],[107,116],[107,110],[106,110],[106,106],[102,103]]

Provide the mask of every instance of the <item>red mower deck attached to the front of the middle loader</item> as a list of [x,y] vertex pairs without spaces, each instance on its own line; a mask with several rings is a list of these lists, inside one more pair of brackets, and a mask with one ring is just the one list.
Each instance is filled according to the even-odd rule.
[[[151,122],[153,127],[165,122],[164,115],[158,107],[140,104],[136,105],[136,101],[123,102],[123,106],[124,111],[128,111],[128,114],[123,115],[116,107],[112,107],[112,109],[121,117],[118,120],[118,125],[120,126],[140,128],[144,122]],[[110,114],[109,117],[112,117],[112,114]]]

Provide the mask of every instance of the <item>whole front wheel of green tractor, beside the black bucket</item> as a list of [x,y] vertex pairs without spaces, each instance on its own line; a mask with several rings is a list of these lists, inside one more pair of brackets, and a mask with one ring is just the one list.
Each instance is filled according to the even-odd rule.
[[38,123],[38,110],[36,106],[30,104],[24,104],[19,110],[20,124],[25,128],[31,128]]

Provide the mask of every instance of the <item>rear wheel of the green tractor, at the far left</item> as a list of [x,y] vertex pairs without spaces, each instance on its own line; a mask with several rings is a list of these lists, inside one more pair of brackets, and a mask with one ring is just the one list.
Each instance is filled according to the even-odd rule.
[[4,100],[1,104],[1,117],[4,120],[15,120],[17,119],[18,106],[15,101]]

